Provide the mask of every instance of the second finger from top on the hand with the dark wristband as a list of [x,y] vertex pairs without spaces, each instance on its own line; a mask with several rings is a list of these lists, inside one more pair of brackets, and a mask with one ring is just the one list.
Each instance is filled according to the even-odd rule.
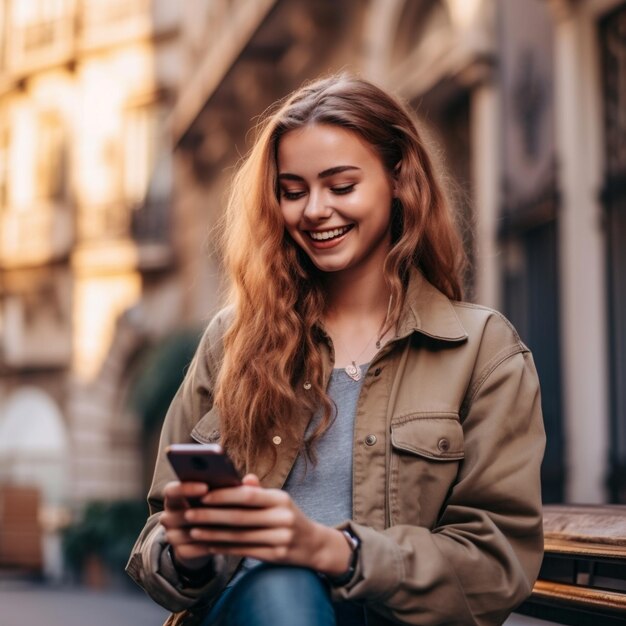
[[198,507],[184,513],[186,524],[193,526],[236,526],[247,528],[292,527],[295,514],[290,508]]

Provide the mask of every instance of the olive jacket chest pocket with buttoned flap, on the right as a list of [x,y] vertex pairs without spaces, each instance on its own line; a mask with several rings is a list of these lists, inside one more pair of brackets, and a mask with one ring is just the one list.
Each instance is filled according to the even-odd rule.
[[391,525],[432,528],[464,457],[456,413],[415,413],[392,420],[389,470]]

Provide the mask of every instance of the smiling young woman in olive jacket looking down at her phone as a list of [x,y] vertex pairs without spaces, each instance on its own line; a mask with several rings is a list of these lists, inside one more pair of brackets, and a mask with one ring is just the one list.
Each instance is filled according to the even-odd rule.
[[[225,252],[231,305],[166,417],[130,575],[172,624],[502,623],[542,556],[539,386],[511,325],[460,301],[407,110],[349,76],[293,94]],[[193,441],[243,485],[176,481],[164,448]]]

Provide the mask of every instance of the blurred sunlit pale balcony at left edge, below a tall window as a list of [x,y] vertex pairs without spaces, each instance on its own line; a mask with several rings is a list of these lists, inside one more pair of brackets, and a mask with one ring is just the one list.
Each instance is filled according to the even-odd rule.
[[74,223],[66,205],[41,203],[0,213],[0,267],[41,265],[69,255]]

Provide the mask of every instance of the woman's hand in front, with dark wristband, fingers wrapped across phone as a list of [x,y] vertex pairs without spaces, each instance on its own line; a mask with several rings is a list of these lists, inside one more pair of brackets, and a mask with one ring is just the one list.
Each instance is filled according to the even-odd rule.
[[286,491],[261,487],[254,474],[242,482],[210,491],[202,506],[185,512],[194,541],[216,554],[299,565],[331,576],[348,570],[351,550],[340,531],[308,518]]

